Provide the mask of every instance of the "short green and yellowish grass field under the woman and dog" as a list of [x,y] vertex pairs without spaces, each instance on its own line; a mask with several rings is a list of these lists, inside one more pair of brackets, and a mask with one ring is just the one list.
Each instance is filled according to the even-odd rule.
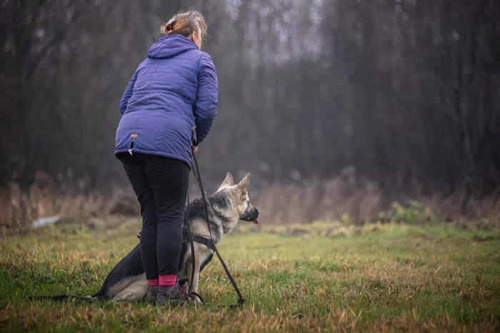
[[219,249],[246,297],[214,259],[201,273],[206,307],[50,302],[86,296],[137,243],[138,221],[109,230],[55,226],[0,243],[0,330],[495,332],[500,231],[454,225],[241,223]]

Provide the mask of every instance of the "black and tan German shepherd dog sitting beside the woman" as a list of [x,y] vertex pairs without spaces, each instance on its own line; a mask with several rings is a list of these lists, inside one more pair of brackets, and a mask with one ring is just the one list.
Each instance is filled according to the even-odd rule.
[[[231,173],[227,173],[226,179],[213,195],[206,197],[209,210],[209,226],[206,223],[204,206],[201,199],[194,200],[189,205],[189,225],[193,237],[210,239],[211,235],[216,244],[222,240],[222,235],[231,232],[239,220],[259,223],[259,211],[250,204],[248,187],[250,174],[238,184],[234,184]],[[187,211],[184,212],[187,214]],[[186,216],[185,216],[186,217]],[[186,227],[186,226],[184,226]],[[140,237],[140,235],[138,235]],[[196,240],[196,239],[195,239]],[[183,242],[182,253],[179,261],[179,284],[182,289],[189,290],[191,285],[191,247],[189,242]],[[199,287],[199,273],[211,260],[214,250],[200,242],[194,242],[194,280],[190,292],[191,300],[195,304],[201,304],[201,299],[196,296]],[[112,302],[136,302],[146,296],[149,288],[144,267],[141,262],[141,249],[139,245],[134,247],[116,266],[109,272],[99,292],[85,299],[109,299]],[[67,296],[33,297],[45,299],[75,298]],[[76,297],[78,298],[78,297]]]

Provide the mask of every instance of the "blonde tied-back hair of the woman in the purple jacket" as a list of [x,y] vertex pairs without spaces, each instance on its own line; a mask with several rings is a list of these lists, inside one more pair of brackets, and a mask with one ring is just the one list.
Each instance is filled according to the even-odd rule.
[[204,39],[206,23],[203,14],[199,11],[180,11],[170,21],[161,26],[161,34],[164,35],[180,34],[189,37],[193,31],[196,31],[196,34],[200,31],[201,39]]

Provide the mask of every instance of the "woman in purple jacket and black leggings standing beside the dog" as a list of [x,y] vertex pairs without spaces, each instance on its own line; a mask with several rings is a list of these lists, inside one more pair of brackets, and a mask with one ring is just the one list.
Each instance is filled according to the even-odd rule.
[[115,155],[141,205],[146,300],[179,304],[188,301],[177,272],[191,153],[209,133],[218,89],[214,63],[200,51],[204,16],[177,14],[161,32],[121,98]]

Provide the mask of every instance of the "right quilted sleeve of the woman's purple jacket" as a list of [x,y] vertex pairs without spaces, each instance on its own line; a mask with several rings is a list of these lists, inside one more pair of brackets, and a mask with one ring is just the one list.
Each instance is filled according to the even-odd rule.
[[212,59],[203,53],[198,63],[198,94],[194,108],[197,143],[201,143],[209,134],[212,123],[217,115],[217,72]]

